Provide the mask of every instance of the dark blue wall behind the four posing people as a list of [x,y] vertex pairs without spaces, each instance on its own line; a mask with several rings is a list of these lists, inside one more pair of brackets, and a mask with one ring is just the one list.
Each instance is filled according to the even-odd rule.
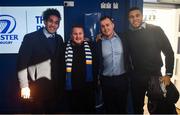
[[[67,0],[69,1],[69,0]],[[119,9],[101,9],[102,2],[117,2]],[[74,7],[64,8],[65,40],[69,39],[70,28],[74,23],[84,25],[84,14],[99,12],[110,15],[115,20],[116,31],[128,28],[127,10],[131,6],[142,8],[143,0],[74,0]],[[64,5],[63,0],[1,0],[1,6],[52,6]],[[21,113],[23,107],[19,102],[19,84],[16,75],[17,54],[0,54],[0,113]]]

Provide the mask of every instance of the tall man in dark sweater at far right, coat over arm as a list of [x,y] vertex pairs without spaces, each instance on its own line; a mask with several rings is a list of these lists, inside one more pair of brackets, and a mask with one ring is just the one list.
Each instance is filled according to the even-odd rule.
[[[126,33],[129,52],[132,59],[133,75],[131,77],[134,112],[143,113],[144,96],[148,81],[152,77],[161,77],[165,86],[170,84],[173,75],[174,53],[168,38],[159,26],[144,23],[142,12],[133,7],[128,12],[130,30]],[[165,55],[166,74],[162,76],[163,62],[161,52]],[[166,109],[166,108],[163,108]],[[156,113],[164,113],[157,110]]]

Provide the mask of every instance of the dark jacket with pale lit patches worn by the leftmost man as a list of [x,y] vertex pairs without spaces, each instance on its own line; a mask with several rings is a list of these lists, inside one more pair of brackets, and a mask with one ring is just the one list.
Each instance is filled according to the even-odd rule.
[[55,36],[54,53],[50,49],[43,29],[25,35],[20,47],[17,60],[20,87],[29,85],[33,98],[44,100],[54,98],[57,92],[62,94],[64,47],[62,37],[58,34]]

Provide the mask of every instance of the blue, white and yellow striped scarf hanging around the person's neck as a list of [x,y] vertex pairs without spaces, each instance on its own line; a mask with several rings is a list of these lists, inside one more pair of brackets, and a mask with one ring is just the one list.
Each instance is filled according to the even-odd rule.
[[[86,58],[86,82],[93,81],[92,75],[92,53],[87,41],[84,41],[85,58]],[[73,49],[72,44],[68,41],[65,51],[66,60],[66,90],[72,90],[72,64],[73,64]]]

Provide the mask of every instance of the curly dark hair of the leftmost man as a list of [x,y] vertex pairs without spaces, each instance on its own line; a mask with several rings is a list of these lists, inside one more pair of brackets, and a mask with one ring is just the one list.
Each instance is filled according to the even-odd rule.
[[61,20],[61,15],[59,13],[59,11],[57,9],[54,9],[54,8],[48,8],[47,10],[45,10],[43,12],[43,20],[44,21],[47,21],[49,19],[50,16],[57,16],[60,20]]

